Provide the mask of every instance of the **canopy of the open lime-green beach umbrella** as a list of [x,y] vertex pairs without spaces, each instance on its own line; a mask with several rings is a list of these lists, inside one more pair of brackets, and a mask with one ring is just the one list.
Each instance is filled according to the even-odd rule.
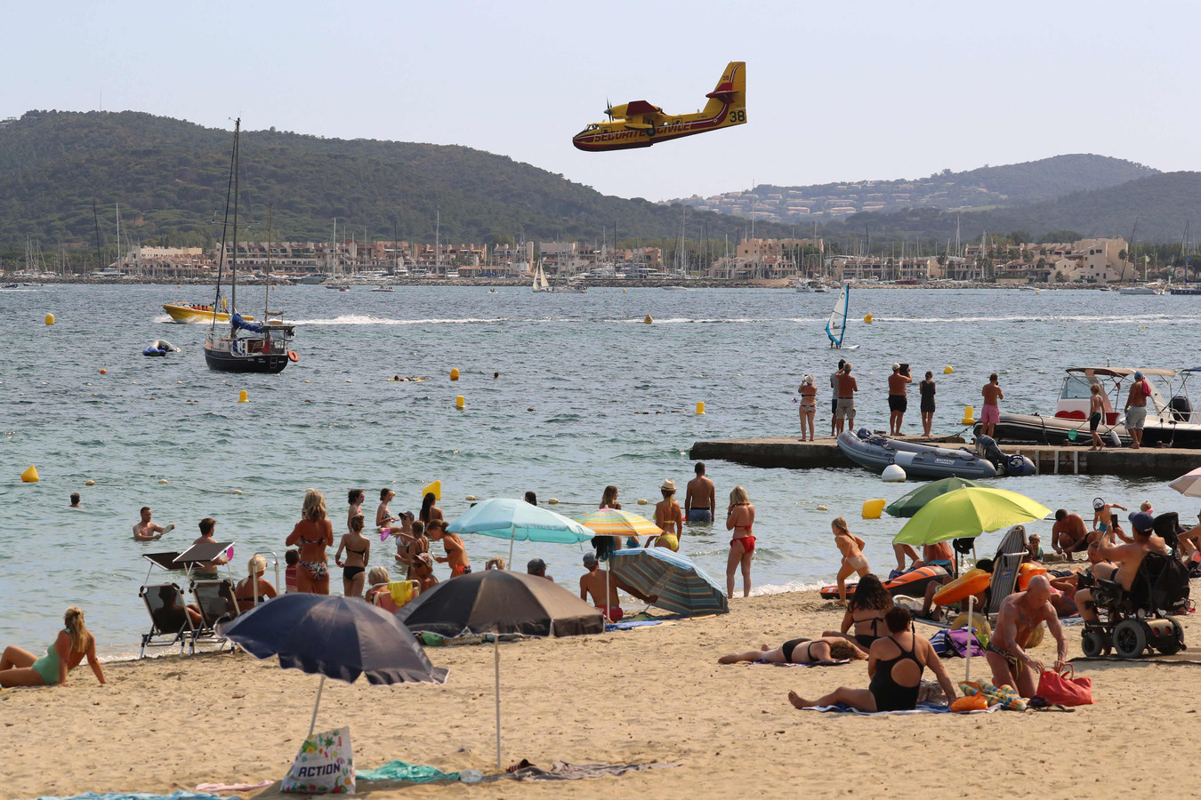
[[969,539],[1042,519],[1051,510],[1023,494],[1006,489],[966,487],[927,503],[892,539],[901,545],[933,545],[950,539]]

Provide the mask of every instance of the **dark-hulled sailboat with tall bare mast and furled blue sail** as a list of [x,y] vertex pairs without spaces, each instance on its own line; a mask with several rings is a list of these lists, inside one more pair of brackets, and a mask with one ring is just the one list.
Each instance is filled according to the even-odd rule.
[[[221,277],[225,270],[225,254],[229,258],[229,332],[219,333],[217,319],[214,315],[209,332],[204,337],[204,361],[209,369],[220,372],[283,372],[288,361],[297,361],[294,350],[288,344],[295,336],[294,325],[285,325],[277,319],[269,319],[261,325],[247,321],[238,313],[238,142],[241,133],[241,120],[234,122],[233,155],[229,160],[229,190],[226,194],[226,224],[229,219],[229,200],[233,198],[233,248],[226,249],[226,225],[221,231],[221,261],[217,265],[217,295],[214,308],[222,308]],[[269,247],[268,247],[269,249]],[[270,289],[268,288],[268,291]]]

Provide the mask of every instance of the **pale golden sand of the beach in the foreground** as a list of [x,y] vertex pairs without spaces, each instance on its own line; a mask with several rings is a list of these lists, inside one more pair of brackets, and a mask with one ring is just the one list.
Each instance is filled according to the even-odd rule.
[[[573,782],[360,783],[359,792],[370,789],[378,800],[450,793],[778,796],[801,787],[818,795],[897,796],[1182,792],[1181,775],[1167,768],[1175,753],[1188,752],[1196,730],[1201,702],[1189,688],[1193,664],[1078,664],[1078,674],[1093,679],[1097,704],[1071,714],[889,717],[788,704],[790,688],[812,697],[842,684],[866,686],[862,663],[717,664],[725,652],[815,636],[839,619],[815,594],[793,593],[736,600],[724,616],[502,645],[506,764],[527,758],[545,768],[556,759],[679,766]],[[1187,640],[1201,646],[1201,625],[1182,621]],[[1068,628],[1070,656],[1080,655],[1078,631]],[[1050,663],[1053,639],[1045,637],[1036,652]],[[491,648],[428,654],[450,669],[444,686],[327,681],[318,729],[348,724],[360,769],[401,758],[495,772]],[[949,668],[958,680],[964,662],[952,660]],[[982,661],[973,661],[975,676],[986,676],[984,670]],[[84,667],[66,688],[0,692],[0,747],[23,754],[0,765],[5,796],[169,793],[268,778],[276,783],[241,796],[295,796],[280,795],[277,781],[307,730],[316,676],[228,652],[114,662],[106,674],[107,686]],[[1133,746],[1142,768],[1103,778],[1098,762]]]

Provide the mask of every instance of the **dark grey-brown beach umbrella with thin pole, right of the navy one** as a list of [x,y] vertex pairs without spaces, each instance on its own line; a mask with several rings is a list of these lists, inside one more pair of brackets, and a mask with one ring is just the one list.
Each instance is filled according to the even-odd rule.
[[440,583],[401,608],[398,618],[411,631],[429,631],[447,637],[497,634],[492,644],[496,769],[501,769],[500,634],[557,637],[604,633],[604,616],[592,606],[551,581],[507,570],[484,570]]

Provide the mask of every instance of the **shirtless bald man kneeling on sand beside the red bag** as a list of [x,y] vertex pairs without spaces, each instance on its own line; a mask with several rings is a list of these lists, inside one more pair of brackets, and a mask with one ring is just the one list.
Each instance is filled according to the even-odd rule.
[[1034,697],[1038,678],[1042,675],[1042,662],[1026,652],[1021,643],[1029,642],[1030,634],[1042,622],[1047,624],[1058,645],[1054,670],[1059,672],[1068,666],[1068,642],[1063,638],[1059,615],[1051,604],[1051,582],[1045,575],[1036,575],[1030,578],[1026,591],[1014,593],[1000,603],[997,625],[985,648],[996,686],[1012,686],[1022,697]]

